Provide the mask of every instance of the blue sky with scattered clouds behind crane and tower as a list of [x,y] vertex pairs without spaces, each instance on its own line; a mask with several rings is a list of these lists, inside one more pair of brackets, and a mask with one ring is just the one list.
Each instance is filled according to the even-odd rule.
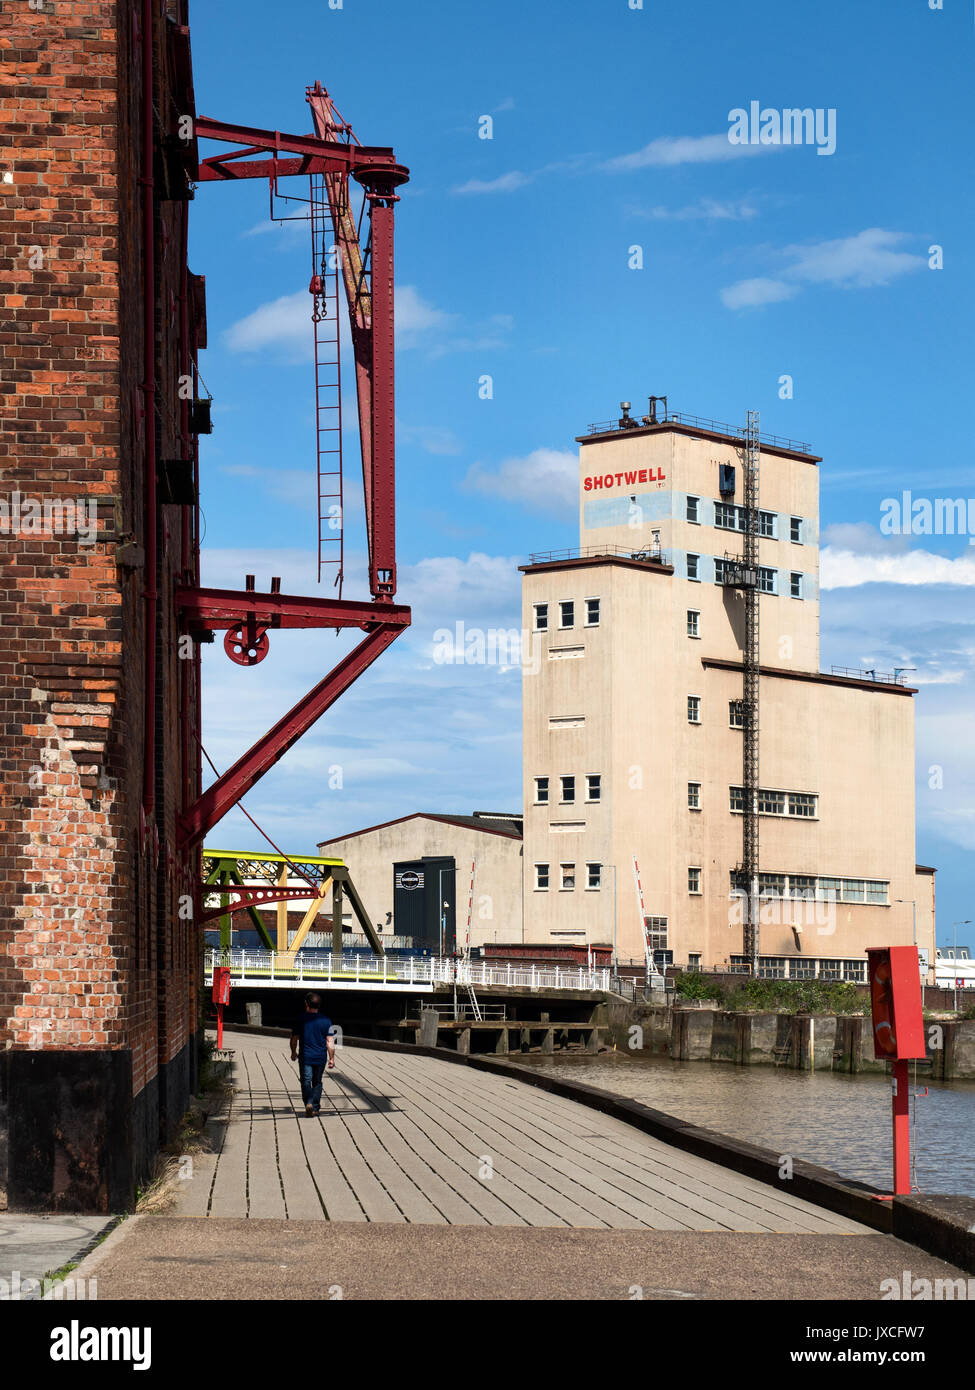
[[[577,543],[573,436],[620,399],[666,393],[729,421],[752,407],[823,456],[823,667],[918,669],[918,859],[939,866],[950,941],[975,917],[975,550],[879,521],[903,489],[975,496],[971,6],[196,0],[191,24],[202,114],[303,132],[321,79],[359,138],[410,168],[396,414],[413,628],[255,788],[252,815],[307,851],[414,809],[519,808],[520,674],[437,664],[434,632],[520,626],[516,566]],[[835,110],[835,153],[729,145],[729,111],[751,101]],[[307,229],[270,225],[256,181],[203,185],[191,264],[207,279],[214,396],[204,578],[316,592]],[[346,460],[353,480],[353,434]],[[346,545],[345,594],[364,596],[355,488]],[[217,766],[344,641],[278,634],[255,670],[207,651]],[[255,837],[235,812],[211,840]]]

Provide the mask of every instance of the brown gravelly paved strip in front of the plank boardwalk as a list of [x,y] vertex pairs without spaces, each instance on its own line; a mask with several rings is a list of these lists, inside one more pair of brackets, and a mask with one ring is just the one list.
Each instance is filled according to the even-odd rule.
[[122,1222],[76,1275],[96,1280],[100,1302],[640,1297],[876,1301],[882,1297],[880,1280],[893,1277],[900,1283],[905,1269],[930,1280],[964,1277],[914,1245],[878,1234],[755,1236],[171,1216]]

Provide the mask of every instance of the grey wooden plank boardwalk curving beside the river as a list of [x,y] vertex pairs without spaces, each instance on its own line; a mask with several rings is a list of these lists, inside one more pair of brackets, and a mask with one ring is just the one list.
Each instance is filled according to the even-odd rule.
[[871,1234],[574,1101],[409,1052],[339,1048],[310,1119],[285,1038],[228,1042],[229,1116],[174,1216]]

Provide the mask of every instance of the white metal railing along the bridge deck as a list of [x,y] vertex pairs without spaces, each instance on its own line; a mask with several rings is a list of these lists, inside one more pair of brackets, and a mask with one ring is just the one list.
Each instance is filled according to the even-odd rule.
[[332,952],[306,956],[300,951],[291,956],[284,951],[218,951],[207,949],[203,969],[206,981],[213,981],[213,967],[229,966],[231,979],[293,980],[295,984],[342,981],[356,984],[502,984],[520,990],[609,990],[611,972],[569,969],[555,966],[488,965],[485,960],[455,960],[440,956],[376,956],[369,952]]

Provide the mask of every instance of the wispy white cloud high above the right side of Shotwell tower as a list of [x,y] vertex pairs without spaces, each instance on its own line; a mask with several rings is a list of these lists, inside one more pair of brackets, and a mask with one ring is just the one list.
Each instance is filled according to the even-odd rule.
[[855,236],[840,236],[807,246],[786,246],[780,259],[787,264],[775,278],[740,279],[720,292],[727,309],[754,309],[794,299],[803,285],[832,285],[836,289],[869,289],[889,285],[900,275],[922,270],[928,261],[914,252],[897,250],[905,232],[868,227]]

